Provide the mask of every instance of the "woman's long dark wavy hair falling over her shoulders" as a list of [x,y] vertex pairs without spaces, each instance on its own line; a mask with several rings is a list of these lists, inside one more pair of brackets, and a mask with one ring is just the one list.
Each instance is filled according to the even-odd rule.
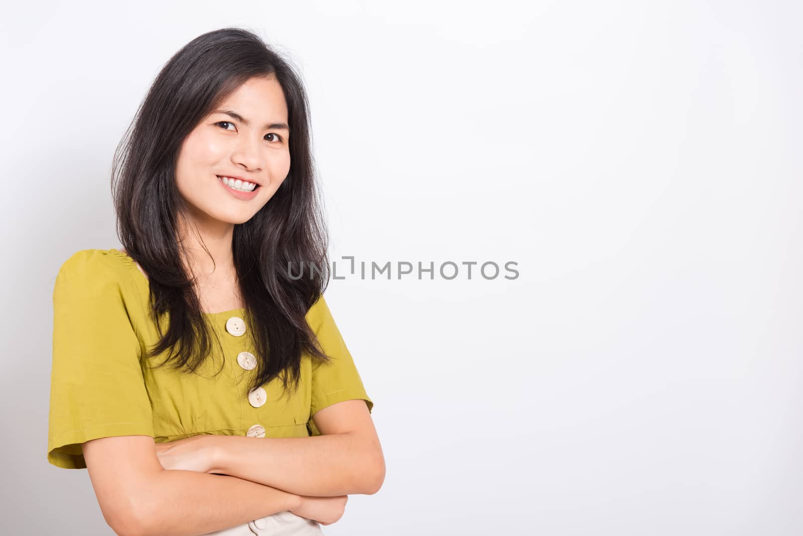
[[[308,97],[288,59],[239,28],[199,35],[169,59],[114,153],[116,232],[149,278],[150,315],[161,339],[146,356],[169,349],[158,366],[170,362],[173,368],[195,372],[210,355],[212,338],[196,279],[181,260],[185,250],[177,222],[187,205],[176,186],[178,152],[185,137],[252,77],[272,78],[282,87],[291,165],[270,201],[249,221],[234,225],[232,254],[244,320],[258,353],[249,392],[284,372],[283,388],[289,395],[290,383],[298,387],[302,351],[328,360],[305,315],[326,289],[329,270]],[[311,262],[316,270],[302,269]],[[161,326],[165,319],[166,332]]]

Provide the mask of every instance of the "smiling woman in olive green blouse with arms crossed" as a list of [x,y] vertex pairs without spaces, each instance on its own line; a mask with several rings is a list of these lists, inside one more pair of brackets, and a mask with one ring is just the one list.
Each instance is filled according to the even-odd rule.
[[385,462],[323,297],[299,75],[247,30],[194,39],[112,190],[124,247],[55,281],[48,461],[88,469],[118,534],[322,534]]

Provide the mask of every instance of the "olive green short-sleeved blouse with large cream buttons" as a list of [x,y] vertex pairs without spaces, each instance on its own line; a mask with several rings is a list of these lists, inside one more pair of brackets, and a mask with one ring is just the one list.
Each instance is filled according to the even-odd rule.
[[[307,314],[329,363],[302,354],[299,388],[288,400],[275,378],[247,393],[255,350],[243,309],[205,313],[220,339],[196,373],[154,368],[145,350],[158,341],[149,317],[149,282],[120,250],[80,250],[59,269],[53,289],[53,368],[47,461],[87,465],[81,444],[99,437],[151,436],[157,443],[208,433],[224,436],[320,435],[314,415],[344,400],[373,401],[323,296]],[[222,372],[221,371],[222,367]]]

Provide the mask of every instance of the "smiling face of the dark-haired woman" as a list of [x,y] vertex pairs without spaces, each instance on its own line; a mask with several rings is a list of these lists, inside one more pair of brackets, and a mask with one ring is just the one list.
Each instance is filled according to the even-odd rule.
[[[212,225],[250,220],[290,171],[289,137],[279,83],[265,78],[243,83],[181,144],[176,183],[191,215]],[[222,177],[231,177],[228,185]],[[258,186],[249,192],[251,185],[240,181]]]

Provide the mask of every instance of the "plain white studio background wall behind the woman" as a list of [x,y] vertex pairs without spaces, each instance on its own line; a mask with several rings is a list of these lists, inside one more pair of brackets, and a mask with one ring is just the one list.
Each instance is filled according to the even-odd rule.
[[[332,258],[436,266],[329,286],[387,474],[326,534],[803,530],[798,2],[2,19],[8,534],[112,534],[88,473],[46,460],[53,283],[119,245],[112,152],[169,57],[224,26],[300,66]],[[447,261],[519,277],[446,280]]]

